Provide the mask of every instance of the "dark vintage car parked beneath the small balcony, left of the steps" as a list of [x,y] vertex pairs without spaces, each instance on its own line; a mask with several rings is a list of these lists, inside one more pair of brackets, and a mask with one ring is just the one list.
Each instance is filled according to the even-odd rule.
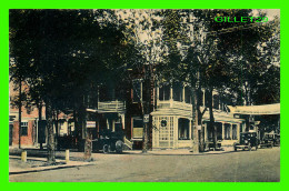
[[121,153],[123,150],[123,133],[103,130],[99,133],[99,138],[94,140],[94,145],[96,150],[101,150],[103,153],[113,151]]

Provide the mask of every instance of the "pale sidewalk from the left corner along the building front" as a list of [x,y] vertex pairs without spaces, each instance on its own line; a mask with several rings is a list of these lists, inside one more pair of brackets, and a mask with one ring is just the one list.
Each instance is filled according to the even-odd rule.
[[57,170],[63,168],[77,168],[83,165],[101,164],[101,161],[114,160],[118,157],[126,155],[205,155],[205,154],[222,154],[233,152],[231,147],[225,147],[221,151],[207,151],[200,153],[193,153],[189,149],[168,149],[168,150],[152,150],[147,153],[142,153],[141,150],[128,150],[121,154],[112,153],[92,153],[92,161],[88,162],[83,160],[83,152],[70,152],[70,161],[66,163],[66,151],[56,151],[56,164],[47,165],[47,151],[39,149],[26,149],[27,162],[21,161],[21,151],[19,149],[9,150],[9,174],[30,173],[48,170]]

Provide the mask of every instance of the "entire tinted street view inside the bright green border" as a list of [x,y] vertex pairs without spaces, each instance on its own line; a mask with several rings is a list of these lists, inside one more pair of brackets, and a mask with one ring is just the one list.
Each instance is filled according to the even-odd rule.
[[9,11],[10,182],[279,182],[280,10]]

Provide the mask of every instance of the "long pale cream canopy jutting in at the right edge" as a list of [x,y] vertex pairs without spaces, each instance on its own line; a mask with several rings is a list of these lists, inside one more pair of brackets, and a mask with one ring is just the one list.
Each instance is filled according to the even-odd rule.
[[280,114],[280,103],[262,105],[228,105],[231,113],[237,114]]

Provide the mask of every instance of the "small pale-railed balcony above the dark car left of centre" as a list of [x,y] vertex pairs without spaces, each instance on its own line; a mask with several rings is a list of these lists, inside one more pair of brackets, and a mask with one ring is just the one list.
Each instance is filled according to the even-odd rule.
[[109,113],[109,112],[126,112],[126,102],[124,101],[104,101],[98,103],[98,111],[100,113]]

